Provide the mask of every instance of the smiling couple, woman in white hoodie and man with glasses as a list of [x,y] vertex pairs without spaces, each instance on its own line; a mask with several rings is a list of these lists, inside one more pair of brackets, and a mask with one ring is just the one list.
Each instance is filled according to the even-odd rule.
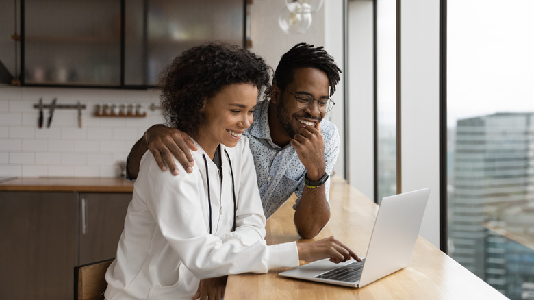
[[[219,299],[228,274],[265,273],[299,260],[359,260],[335,238],[266,245],[265,215],[287,200],[290,188],[300,200],[299,234],[311,238],[324,227],[324,183],[338,153],[338,145],[325,149],[318,123],[339,80],[331,57],[322,47],[299,44],[283,55],[272,86],[269,70],[257,55],[221,43],[185,51],[166,68],[162,110],[168,125],[183,132],[185,151],[181,160],[164,155],[173,173],[162,172],[161,155],[147,151],[150,132],[130,153],[137,180],[106,274],[106,299]],[[263,88],[270,101],[257,103]],[[295,160],[301,164],[288,168]]]

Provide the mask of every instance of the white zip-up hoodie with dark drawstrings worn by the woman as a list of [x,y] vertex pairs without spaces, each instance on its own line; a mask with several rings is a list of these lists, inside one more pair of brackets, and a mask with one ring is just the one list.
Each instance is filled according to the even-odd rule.
[[295,242],[267,246],[264,240],[265,216],[249,140],[242,136],[236,147],[221,145],[221,150],[222,182],[201,147],[192,152],[192,173],[176,161],[177,176],[162,172],[153,155],[144,153],[116,260],[105,275],[107,300],[190,299],[199,279],[298,266]]

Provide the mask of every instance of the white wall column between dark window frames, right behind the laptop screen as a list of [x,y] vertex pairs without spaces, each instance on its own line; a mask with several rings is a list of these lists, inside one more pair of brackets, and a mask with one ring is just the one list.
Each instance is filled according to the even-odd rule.
[[401,186],[431,188],[420,234],[440,247],[440,1],[401,5]]

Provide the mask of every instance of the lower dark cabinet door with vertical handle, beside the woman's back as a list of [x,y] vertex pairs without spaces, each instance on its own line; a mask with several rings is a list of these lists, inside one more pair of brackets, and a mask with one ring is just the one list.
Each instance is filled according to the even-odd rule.
[[81,192],[79,199],[79,264],[114,258],[131,193]]

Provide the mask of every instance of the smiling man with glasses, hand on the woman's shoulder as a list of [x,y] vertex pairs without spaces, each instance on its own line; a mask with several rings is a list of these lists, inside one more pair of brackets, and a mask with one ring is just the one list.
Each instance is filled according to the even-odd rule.
[[[295,192],[294,223],[303,238],[314,238],[330,218],[329,174],[338,158],[340,138],[335,125],[323,118],[334,104],[330,97],[340,72],[322,47],[295,45],[277,66],[272,86],[265,92],[270,99],[257,104],[254,122],[244,132],[266,218]],[[186,134],[154,125],[129,154],[129,177],[137,177],[140,158],[147,149],[162,171],[167,164],[178,174],[175,155],[190,172],[193,160],[188,148],[196,150]]]

